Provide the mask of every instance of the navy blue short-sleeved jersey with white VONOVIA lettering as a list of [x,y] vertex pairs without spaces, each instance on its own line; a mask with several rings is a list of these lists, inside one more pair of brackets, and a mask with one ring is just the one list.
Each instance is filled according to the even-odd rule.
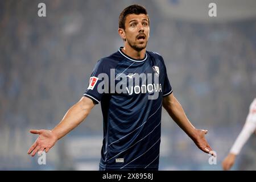
[[84,96],[101,102],[101,168],[158,168],[162,101],[171,93],[158,53],[146,51],[138,60],[121,47],[98,60]]

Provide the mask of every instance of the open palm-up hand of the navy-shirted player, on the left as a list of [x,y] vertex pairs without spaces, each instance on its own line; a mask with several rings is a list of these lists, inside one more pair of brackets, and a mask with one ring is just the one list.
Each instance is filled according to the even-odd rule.
[[57,137],[51,130],[30,130],[30,133],[39,135],[27,152],[27,154],[32,153],[31,156],[35,156],[36,152],[41,154],[44,150],[48,152],[57,142]]

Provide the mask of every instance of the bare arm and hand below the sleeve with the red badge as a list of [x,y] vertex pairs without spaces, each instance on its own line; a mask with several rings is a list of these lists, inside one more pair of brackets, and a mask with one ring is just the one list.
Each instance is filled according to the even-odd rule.
[[64,137],[69,131],[75,129],[90,113],[94,107],[94,102],[88,97],[82,97],[79,102],[73,105],[64,115],[60,123],[52,130],[30,130],[32,134],[39,137],[28,150],[28,154],[34,156],[36,152],[48,152],[57,140]]

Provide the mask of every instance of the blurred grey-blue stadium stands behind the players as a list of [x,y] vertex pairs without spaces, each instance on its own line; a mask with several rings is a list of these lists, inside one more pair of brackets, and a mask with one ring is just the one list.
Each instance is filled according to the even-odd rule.
[[[45,18],[38,3],[46,3]],[[210,2],[217,17],[208,16]],[[82,96],[98,59],[123,45],[118,16],[133,3],[151,20],[148,50],[163,55],[174,94],[217,152],[217,164],[163,111],[160,170],[221,170],[256,96],[256,1],[0,1],[0,169],[97,170],[102,116],[86,121],[47,154],[27,155],[29,129],[52,129]],[[252,136],[234,170],[256,169]]]

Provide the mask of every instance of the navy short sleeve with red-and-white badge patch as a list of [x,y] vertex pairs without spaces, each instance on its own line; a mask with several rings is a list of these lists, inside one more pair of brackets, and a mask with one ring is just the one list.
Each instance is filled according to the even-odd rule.
[[104,86],[102,86],[101,84],[101,82],[104,81],[101,74],[103,75],[104,73],[106,74],[104,71],[104,61],[98,60],[97,64],[93,68],[92,75],[90,76],[88,88],[83,95],[92,99],[95,104],[98,104],[104,95],[102,89],[104,89],[104,86],[106,85],[104,84]]

